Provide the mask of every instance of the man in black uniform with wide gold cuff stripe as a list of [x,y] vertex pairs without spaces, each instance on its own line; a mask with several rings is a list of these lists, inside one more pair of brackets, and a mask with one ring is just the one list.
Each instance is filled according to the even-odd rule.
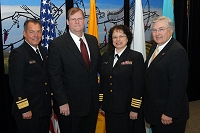
[[14,98],[12,114],[19,133],[48,133],[51,93],[46,50],[39,46],[42,38],[40,22],[27,20],[23,35],[25,41],[13,49],[9,57],[9,82]]

